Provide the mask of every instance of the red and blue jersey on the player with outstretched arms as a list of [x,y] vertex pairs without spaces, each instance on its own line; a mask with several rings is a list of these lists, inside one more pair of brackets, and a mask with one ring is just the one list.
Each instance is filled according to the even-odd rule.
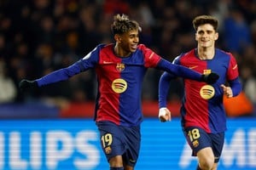
[[109,121],[131,127],[143,121],[141,91],[149,67],[156,67],[160,56],[143,44],[128,57],[114,54],[114,44],[100,44],[83,59],[37,80],[39,87],[59,82],[94,68],[98,82],[96,122]]

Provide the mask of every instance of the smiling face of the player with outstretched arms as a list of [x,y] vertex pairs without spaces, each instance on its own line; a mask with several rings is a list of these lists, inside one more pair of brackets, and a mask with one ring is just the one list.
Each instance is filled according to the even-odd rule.
[[137,49],[137,44],[139,42],[138,30],[127,31],[123,34],[116,34],[115,40],[117,42],[116,53],[121,57],[128,56]]

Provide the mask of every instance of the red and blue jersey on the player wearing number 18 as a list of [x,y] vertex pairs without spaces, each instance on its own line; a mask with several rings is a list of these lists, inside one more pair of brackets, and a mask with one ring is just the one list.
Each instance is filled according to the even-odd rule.
[[[213,85],[184,79],[186,94],[181,108],[183,127],[201,127],[207,133],[224,132],[226,116],[223,89],[220,85],[238,77],[236,59],[232,54],[216,49],[213,59],[201,60],[197,57],[196,50],[193,49],[187,54],[178,56],[174,63],[203,74],[216,72],[219,75],[218,82]],[[207,99],[207,96],[211,95],[212,98]]]

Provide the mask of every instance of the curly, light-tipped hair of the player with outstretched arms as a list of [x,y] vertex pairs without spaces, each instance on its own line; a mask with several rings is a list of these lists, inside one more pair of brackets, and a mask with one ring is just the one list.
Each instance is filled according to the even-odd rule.
[[111,25],[111,31],[114,34],[123,34],[127,31],[138,30],[142,31],[136,20],[130,20],[125,14],[116,14],[113,16],[113,24]]

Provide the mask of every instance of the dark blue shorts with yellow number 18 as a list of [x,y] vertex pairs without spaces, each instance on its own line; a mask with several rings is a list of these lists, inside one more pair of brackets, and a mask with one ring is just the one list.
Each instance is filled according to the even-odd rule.
[[211,147],[215,157],[214,162],[219,161],[224,146],[224,133],[207,133],[200,127],[186,127],[183,133],[193,150],[192,156],[196,156],[196,153],[203,148]]

